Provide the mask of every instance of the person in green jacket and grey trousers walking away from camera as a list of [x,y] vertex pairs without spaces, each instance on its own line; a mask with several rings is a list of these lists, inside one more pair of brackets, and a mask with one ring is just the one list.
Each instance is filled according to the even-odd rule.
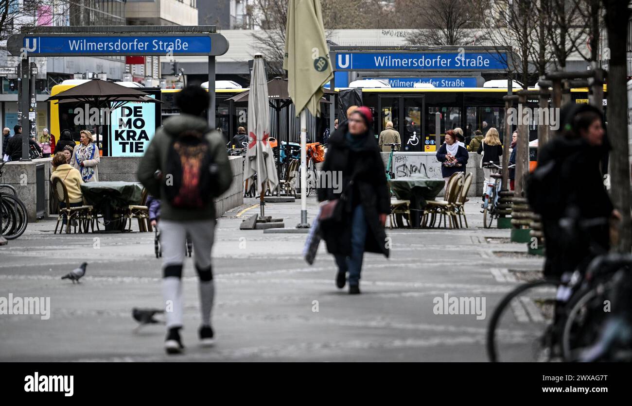
[[[176,95],[176,105],[181,110],[179,116],[169,117],[164,126],[156,131],[147,152],[138,165],[137,177],[149,194],[161,200],[161,242],[162,242],[162,295],[166,304],[167,354],[178,354],[184,346],[179,335],[183,326],[182,265],[185,258],[186,236],[190,236],[195,253],[195,269],[199,277],[200,308],[202,323],[199,330],[202,345],[213,343],[214,331],[210,325],[215,287],[210,251],[213,244],[216,212],[214,199],[200,208],[178,208],[166,198],[169,185],[164,174],[169,162],[171,145],[179,136],[191,133],[203,134],[209,143],[214,185],[212,197],[228,190],[233,173],[228,162],[224,138],[217,131],[211,131],[202,114],[209,106],[209,94],[198,85],[190,85]],[[163,180],[164,179],[164,180]]]

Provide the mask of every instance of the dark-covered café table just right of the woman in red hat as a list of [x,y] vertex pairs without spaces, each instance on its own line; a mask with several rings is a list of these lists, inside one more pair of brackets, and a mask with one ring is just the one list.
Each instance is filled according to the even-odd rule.
[[399,200],[410,200],[411,227],[418,228],[422,222],[426,201],[433,200],[446,186],[443,179],[434,179],[423,174],[411,174],[389,180],[389,187]]

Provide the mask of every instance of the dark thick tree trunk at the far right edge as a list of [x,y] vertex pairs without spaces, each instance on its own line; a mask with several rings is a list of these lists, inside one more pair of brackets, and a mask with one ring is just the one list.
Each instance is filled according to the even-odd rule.
[[628,28],[628,3],[620,0],[604,0],[605,25],[608,32],[610,63],[608,75],[608,137],[612,144],[610,158],[612,203],[621,212],[619,244],[621,253],[632,249],[630,227],[630,167],[628,158],[628,95],[626,94],[626,33]]

